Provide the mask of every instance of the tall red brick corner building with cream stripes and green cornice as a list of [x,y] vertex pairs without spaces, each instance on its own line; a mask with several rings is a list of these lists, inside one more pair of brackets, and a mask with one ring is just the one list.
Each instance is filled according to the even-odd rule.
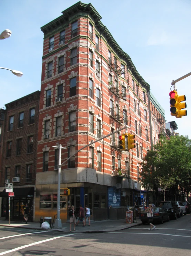
[[[44,33],[36,175],[36,220],[57,208],[61,162],[84,145],[124,125],[136,148],[119,150],[119,133],[81,150],[61,167],[61,219],[68,205],[86,205],[93,220],[108,208],[145,203],[139,162],[150,149],[150,86],[122,51],[91,4],[76,3],[41,27]],[[125,132],[125,130],[124,130]],[[122,134],[123,132],[121,132]]]

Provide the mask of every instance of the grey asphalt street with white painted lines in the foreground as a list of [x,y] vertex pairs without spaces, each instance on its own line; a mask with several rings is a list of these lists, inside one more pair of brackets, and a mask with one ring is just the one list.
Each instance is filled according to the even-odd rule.
[[116,232],[63,233],[0,227],[0,256],[191,255],[191,214]]

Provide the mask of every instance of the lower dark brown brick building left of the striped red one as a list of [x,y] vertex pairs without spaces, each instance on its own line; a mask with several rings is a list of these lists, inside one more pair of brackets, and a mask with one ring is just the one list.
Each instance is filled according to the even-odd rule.
[[39,99],[40,91],[36,91],[6,104],[6,110],[1,109],[1,217],[9,216],[5,185],[13,183],[11,220],[23,220],[26,203],[31,211],[29,221],[34,217]]

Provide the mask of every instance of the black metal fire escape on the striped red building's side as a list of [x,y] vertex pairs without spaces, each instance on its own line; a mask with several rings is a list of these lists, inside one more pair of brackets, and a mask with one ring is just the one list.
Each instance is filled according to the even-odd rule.
[[[126,91],[121,88],[121,85],[119,83],[119,77],[121,76],[121,69],[117,64],[117,59],[115,57],[108,58],[108,63],[109,63],[110,74],[114,73],[114,81],[113,81],[113,75],[110,76],[111,79],[109,81],[109,97],[112,98],[112,101],[110,101],[110,124],[112,124],[116,130],[118,130],[120,129],[122,124],[124,125],[128,124],[127,113],[125,114],[125,112],[121,111],[122,109],[121,99],[122,98],[124,99],[124,97],[126,97]],[[119,161],[119,159],[121,161],[122,152],[119,149],[118,134],[117,134],[117,139],[115,138],[114,135],[111,136],[111,155],[114,156],[115,159],[117,156],[117,161]],[[128,160],[129,160],[129,157],[128,157]],[[128,165],[129,165],[129,161],[128,161]],[[119,163],[115,162],[115,164],[112,163],[111,171],[112,171],[112,176],[114,177],[130,179],[129,166],[125,169],[122,169],[121,166],[119,166]]]

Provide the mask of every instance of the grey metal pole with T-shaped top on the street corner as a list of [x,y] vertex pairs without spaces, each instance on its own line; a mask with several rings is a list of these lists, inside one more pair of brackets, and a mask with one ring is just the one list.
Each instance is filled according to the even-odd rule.
[[60,219],[60,173],[61,173],[61,149],[66,149],[62,148],[62,145],[58,146],[52,146],[53,148],[58,148],[59,149],[59,155],[58,155],[58,191],[57,191],[57,218],[54,223],[54,228],[62,228],[62,221]]

